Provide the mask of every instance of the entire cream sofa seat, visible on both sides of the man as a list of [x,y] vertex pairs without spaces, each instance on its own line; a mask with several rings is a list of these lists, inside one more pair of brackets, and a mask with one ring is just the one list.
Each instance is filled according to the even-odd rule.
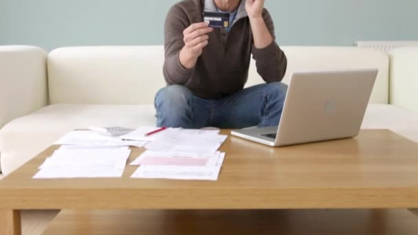
[[[88,126],[155,126],[154,115],[152,105],[56,104],[45,107],[1,129],[1,168],[8,175],[68,131]],[[388,128],[418,142],[418,113],[388,104],[370,104],[362,128]]]

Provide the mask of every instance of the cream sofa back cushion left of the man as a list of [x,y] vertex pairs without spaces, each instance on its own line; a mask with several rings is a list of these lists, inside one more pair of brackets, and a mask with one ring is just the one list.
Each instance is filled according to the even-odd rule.
[[58,48],[47,64],[50,104],[153,104],[166,85],[161,45]]

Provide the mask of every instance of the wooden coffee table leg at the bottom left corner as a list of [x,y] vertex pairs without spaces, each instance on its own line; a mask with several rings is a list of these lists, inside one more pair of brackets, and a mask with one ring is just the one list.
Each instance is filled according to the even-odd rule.
[[21,212],[19,210],[0,210],[0,234],[22,234]]

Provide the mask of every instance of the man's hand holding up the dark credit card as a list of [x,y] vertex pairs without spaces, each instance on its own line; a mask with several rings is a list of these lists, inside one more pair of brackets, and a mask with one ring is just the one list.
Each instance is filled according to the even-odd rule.
[[180,63],[186,69],[195,67],[197,58],[201,56],[203,48],[208,45],[208,34],[213,31],[208,23],[193,23],[184,30],[184,47],[180,51]]

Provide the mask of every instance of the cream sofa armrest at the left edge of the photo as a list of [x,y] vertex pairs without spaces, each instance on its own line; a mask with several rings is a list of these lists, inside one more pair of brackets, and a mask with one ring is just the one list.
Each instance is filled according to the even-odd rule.
[[0,128],[47,105],[46,57],[39,47],[0,46]]

